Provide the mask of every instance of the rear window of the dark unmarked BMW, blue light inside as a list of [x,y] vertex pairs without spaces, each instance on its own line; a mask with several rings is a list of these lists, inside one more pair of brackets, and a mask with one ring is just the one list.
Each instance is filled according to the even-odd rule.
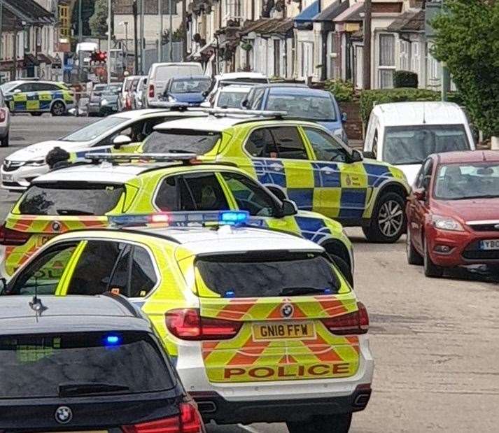
[[169,390],[170,369],[144,332],[0,336],[0,399]]

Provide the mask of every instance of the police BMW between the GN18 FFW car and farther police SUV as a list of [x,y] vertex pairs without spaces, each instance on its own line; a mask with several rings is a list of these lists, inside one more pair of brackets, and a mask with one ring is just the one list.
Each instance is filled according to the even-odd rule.
[[0,227],[0,276],[13,274],[55,234],[106,227],[108,215],[241,209],[251,214],[252,225],[301,234],[324,246],[353,283],[352,246],[342,225],[297,211],[237,167],[199,164],[193,154],[87,157],[94,164],[70,164],[39,176],[13,206]]

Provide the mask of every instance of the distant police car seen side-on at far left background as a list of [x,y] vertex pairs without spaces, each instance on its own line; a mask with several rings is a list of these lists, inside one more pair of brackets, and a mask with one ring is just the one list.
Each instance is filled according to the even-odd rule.
[[73,108],[74,94],[64,83],[17,80],[1,85],[11,113],[64,115]]

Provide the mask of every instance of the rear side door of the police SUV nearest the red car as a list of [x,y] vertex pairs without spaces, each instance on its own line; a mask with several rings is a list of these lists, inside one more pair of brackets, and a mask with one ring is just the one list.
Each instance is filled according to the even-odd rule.
[[286,195],[300,209],[314,207],[314,172],[310,155],[297,127],[254,129],[246,142],[255,174],[280,198]]

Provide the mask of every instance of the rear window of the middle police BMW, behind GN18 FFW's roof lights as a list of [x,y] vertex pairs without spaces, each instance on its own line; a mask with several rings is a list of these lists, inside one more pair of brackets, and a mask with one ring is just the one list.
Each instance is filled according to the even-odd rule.
[[24,215],[104,215],[125,192],[123,185],[86,182],[38,183],[22,196]]

